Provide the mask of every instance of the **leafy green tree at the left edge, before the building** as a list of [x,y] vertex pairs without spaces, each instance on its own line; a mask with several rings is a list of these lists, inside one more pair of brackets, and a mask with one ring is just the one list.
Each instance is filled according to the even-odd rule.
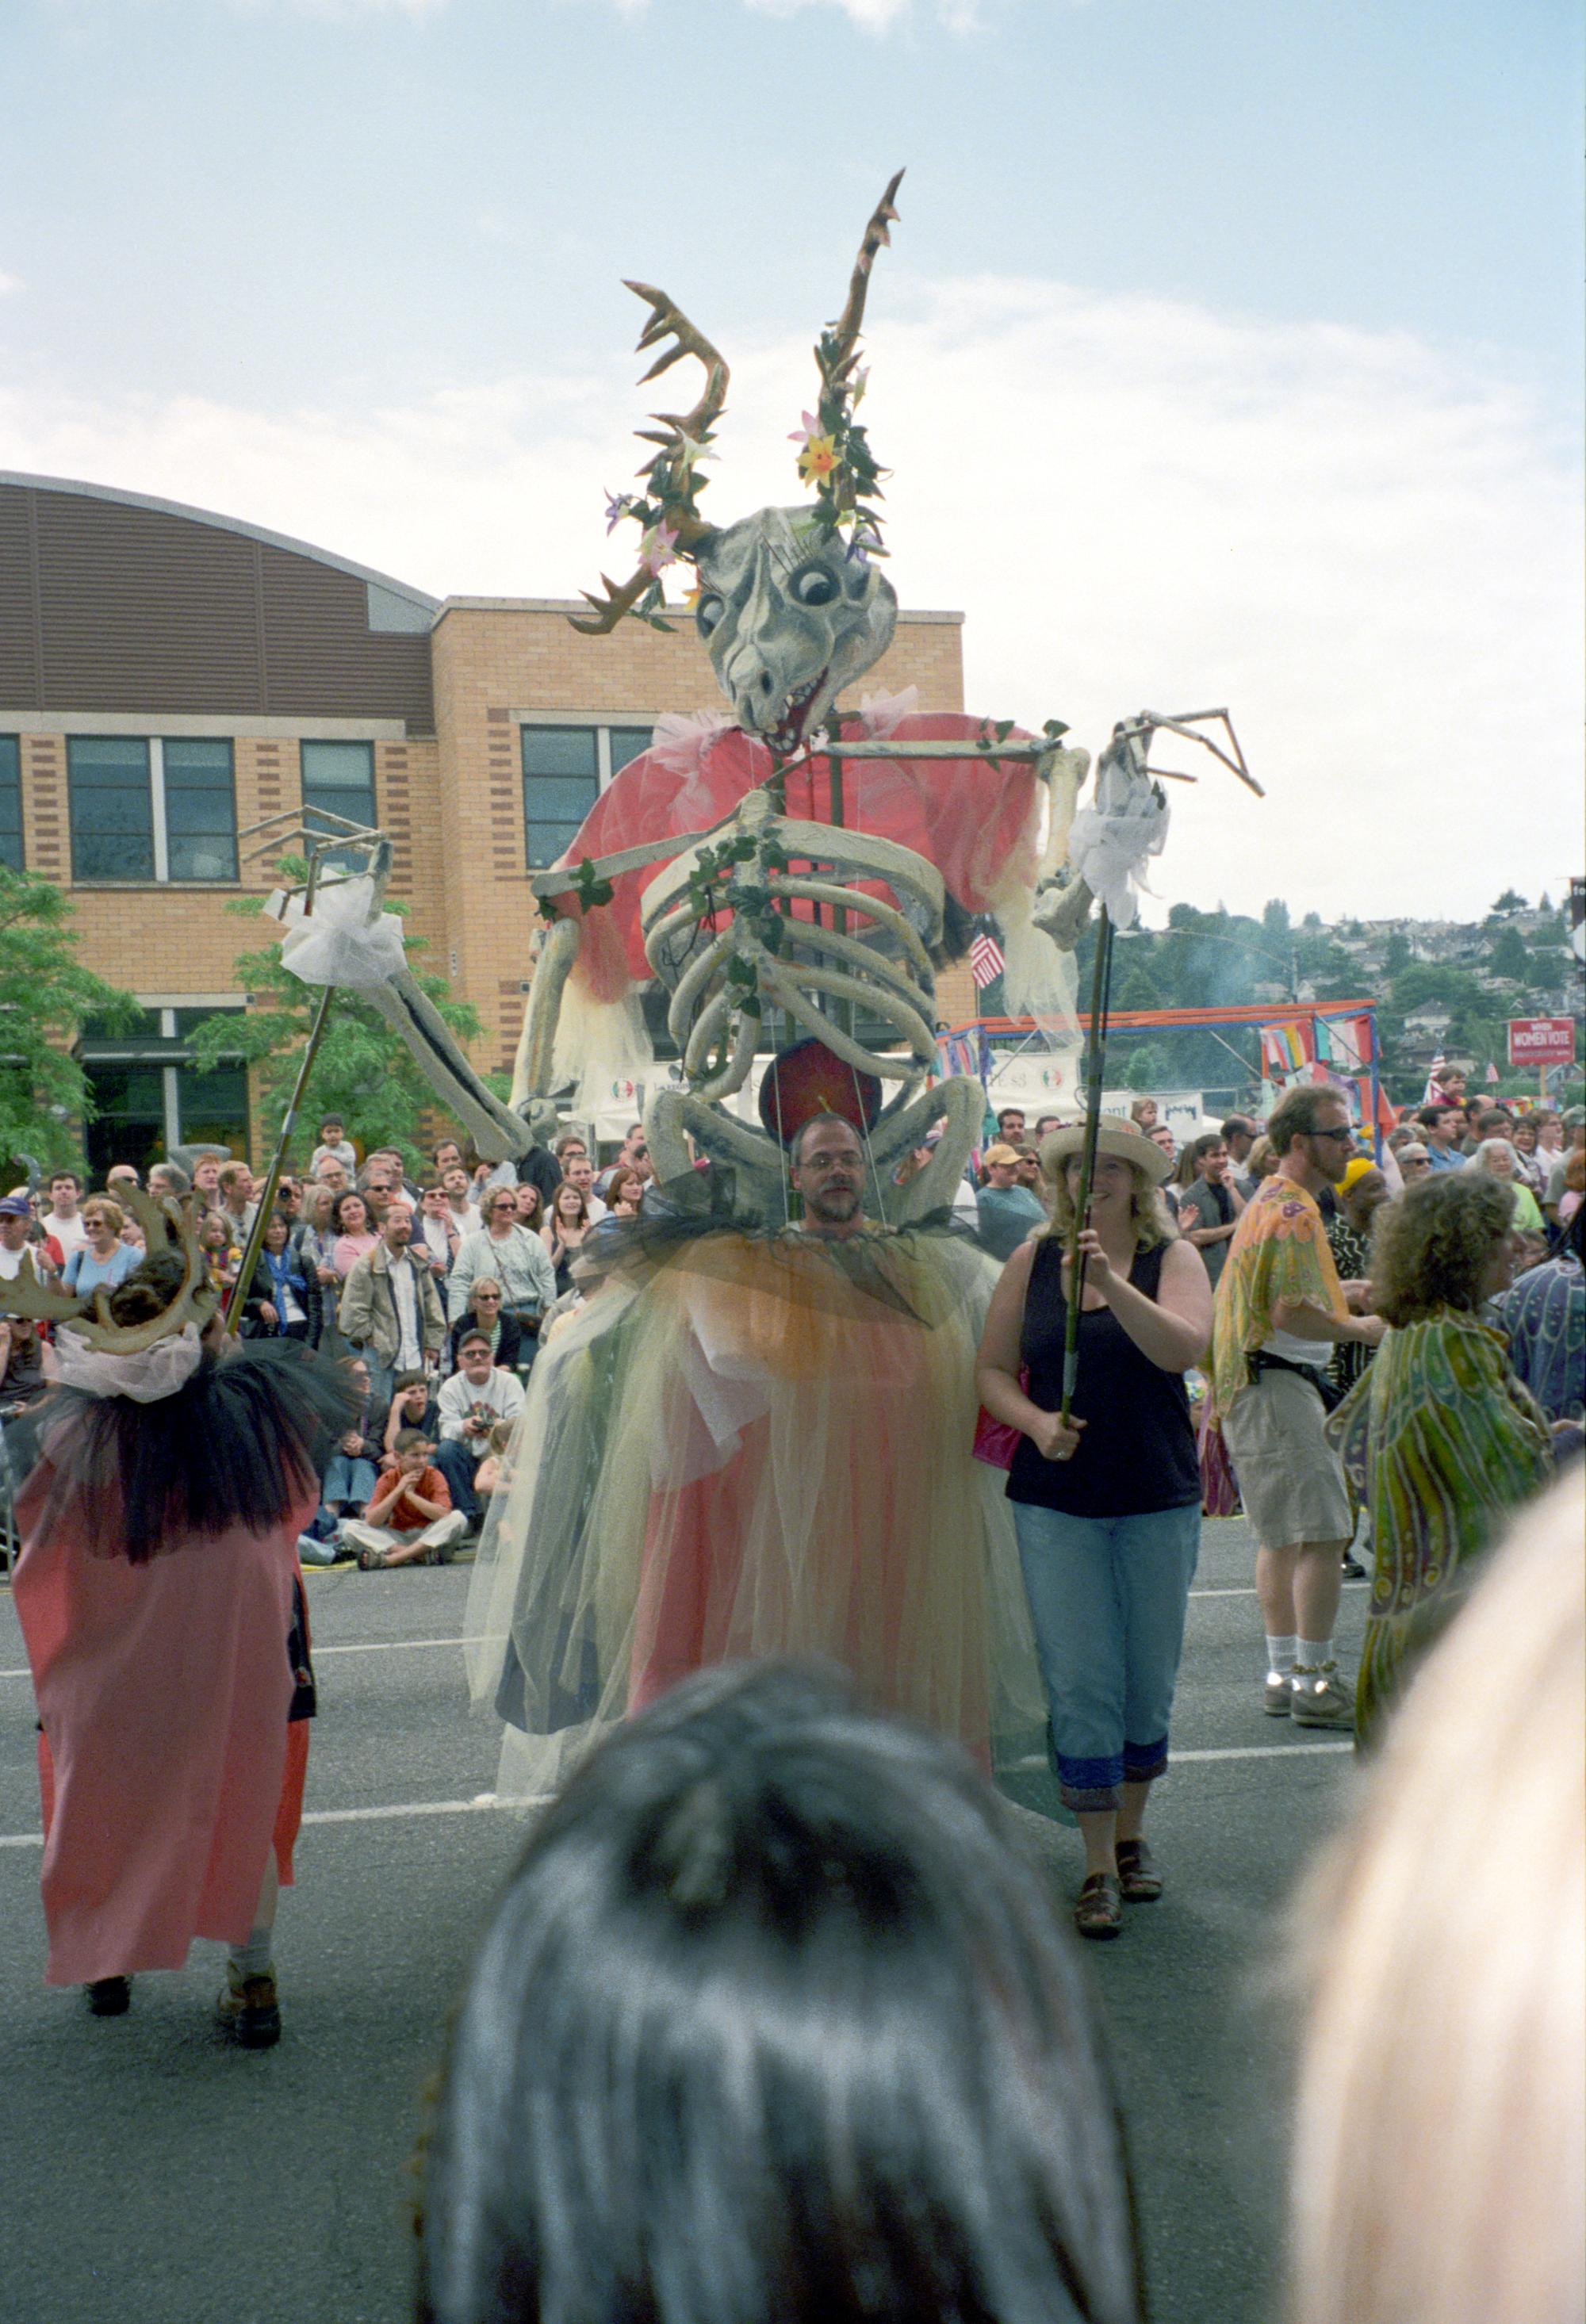
[[[93,1120],[88,1076],[70,1053],[84,1018],[119,1032],[137,1002],[77,960],[72,902],[37,871],[0,865],[0,1155],[81,1167],[74,1125]],[[7,1181],[12,1183],[12,1181]]]

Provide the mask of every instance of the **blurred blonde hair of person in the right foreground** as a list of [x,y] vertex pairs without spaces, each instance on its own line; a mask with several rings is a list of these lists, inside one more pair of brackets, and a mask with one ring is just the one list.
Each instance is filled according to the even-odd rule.
[[1514,1527],[1300,1899],[1293,2324],[1586,2312],[1581,1464]]

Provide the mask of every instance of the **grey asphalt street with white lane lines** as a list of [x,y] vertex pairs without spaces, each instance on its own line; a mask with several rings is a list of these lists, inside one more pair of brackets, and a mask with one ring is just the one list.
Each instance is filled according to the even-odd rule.
[[[465,1710],[467,1569],[309,1578],[321,1715],[298,1887],[281,1899],[284,2038],[212,2024],[221,1948],[91,2020],[44,1987],[33,1703],[0,1597],[2,2324],[398,2324],[412,2154],[442,2027],[521,1815],[479,1808],[495,1729]],[[1353,1662],[1363,1587],[1344,1592]],[[1086,1948],[1112,2027],[1158,2324],[1272,2324],[1295,1878],[1351,1759],[1260,1710],[1251,1538],[1207,1525],[1151,1838],[1167,1875]],[[1077,1834],[1016,1810],[1063,1901]]]

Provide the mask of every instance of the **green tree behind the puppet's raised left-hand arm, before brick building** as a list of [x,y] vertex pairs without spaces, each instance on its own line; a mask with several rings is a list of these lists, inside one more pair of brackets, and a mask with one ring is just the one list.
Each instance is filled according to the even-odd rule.
[[[302,878],[302,865],[284,862],[286,878]],[[402,911],[400,904],[386,904]],[[263,897],[242,897],[228,911],[258,918]],[[444,976],[423,976],[419,955],[426,951],[423,937],[407,939],[407,964],[419,988],[435,1002],[446,1027],[472,1041],[479,1032],[479,1016],[467,1002],[446,995]],[[242,953],[233,971],[251,999],[242,1018],[212,1018],[193,1034],[193,1060],[216,1067],[242,1057],[258,1069],[258,1102],[265,1139],[274,1141],[281,1116],[302,1064],[302,1050],[319,1009],[319,985],[300,983],[291,969],[281,967],[281,946],[270,944],[258,953]],[[386,1020],[356,992],[337,992],[323,1041],[302,1092],[298,1122],[305,1129],[305,1155],[314,1143],[314,1129],[323,1113],[340,1113],[349,1132],[370,1146],[400,1146],[409,1164],[421,1160],[421,1116],[435,1106],[435,1092],[419,1071],[409,1048],[391,1032]]]

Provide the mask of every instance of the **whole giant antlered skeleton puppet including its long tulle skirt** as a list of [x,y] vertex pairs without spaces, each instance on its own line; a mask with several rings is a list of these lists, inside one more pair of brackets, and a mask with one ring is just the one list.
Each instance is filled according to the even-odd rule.
[[[663,718],[533,881],[546,930],[514,1102],[579,1074],[653,1081],[637,1011],[651,978],[670,992],[681,1085],[646,1106],[653,1202],[584,1246],[588,1299],[540,1350],[481,1536],[467,1655],[474,1701],[505,1722],[502,1796],[551,1787],[570,1750],[686,1671],[758,1655],[830,1655],[981,1764],[1042,1750],[1002,1476],[970,1450],[998,1269],[949,1225],[984,1097],[974,1081],[928,1088],[935,969],[995,913],[1014,1006],[1074,1043],[1091,890],[1133,916],[1133,878],[1160,846],[1144,767],[1158,720],[1119,730],[1074,813],[1088,760],[1056,723],[1035,739],[921,716],[909,697],[837,711],[898,618],[853,416],[895,186],[816,349],[800,437],[814,504],[702,521],[726,363],[660,290],[633,286],[653,372],[693,356],[705,388],[693,411],[658,416],[644,490],[612,502],[644,544],[581,627],[665,621],[660,574],[688,560],[733,716]],[[1070,827],[1095,878],[1056,874]],[[793,1039],[756,1129],[726,1099],[767,1020]],[[884,1232],[791,1229],[788,1146],[814,1111],[856,1125]],[[935,1157],[909,1174],[940,1116]]]

